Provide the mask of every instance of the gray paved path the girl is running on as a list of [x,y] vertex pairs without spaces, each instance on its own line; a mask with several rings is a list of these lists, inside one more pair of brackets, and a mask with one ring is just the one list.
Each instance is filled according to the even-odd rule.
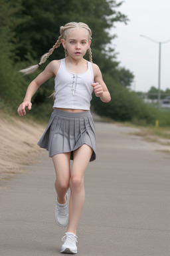
[[[170,255],[170,157],[131,128],[96,123],[98,159],[88,165],[78,255]],[[25,173],[0,183],[1,256],[60,255],[54,170],[44,152]]]

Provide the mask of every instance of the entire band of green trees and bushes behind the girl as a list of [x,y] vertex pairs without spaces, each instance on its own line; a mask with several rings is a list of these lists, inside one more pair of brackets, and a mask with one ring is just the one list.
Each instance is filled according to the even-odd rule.
[[[120,13],[119,1],[111,0],[0,0],[0,113],[17,115],[25,91],[48,61],[64,57],[62,47],[33,75],[23,76],[19,69],[39,62],[42,54],[58,39],[61,25],[70,21],[88,23],[92,29],[92,56],[104,76],[112,101],[105,104],[93,97],[92,109],[102,117],[135,125],[170,126],[170,111],[158,110],[130,91],[133,72],[121,67],[116,59],[114,38],[116,23],[128,25],[128,17]],[[115,32],[110,34],[111,28]],[[31,114],[24,118],[47,121],[52,111],[54,81],[47,81],[33,97]]]

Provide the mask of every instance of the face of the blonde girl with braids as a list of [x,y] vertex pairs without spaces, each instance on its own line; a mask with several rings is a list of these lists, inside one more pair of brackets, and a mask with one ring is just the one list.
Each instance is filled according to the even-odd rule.
[[66,36],[66,40],[62,39],[64,49],[67,49],[68,56],[73,59],[80,59],[89,49],[91,41],[84,29],[74,29]]

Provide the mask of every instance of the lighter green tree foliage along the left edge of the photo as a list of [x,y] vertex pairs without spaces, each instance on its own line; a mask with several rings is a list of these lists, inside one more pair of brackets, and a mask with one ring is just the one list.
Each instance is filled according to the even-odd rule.
[[0,6],[0,101],[13,108],[23,98],[25,85],[15,65],[15,29],[21,22],[15,15],[21,11],[21,1],[0,0]]

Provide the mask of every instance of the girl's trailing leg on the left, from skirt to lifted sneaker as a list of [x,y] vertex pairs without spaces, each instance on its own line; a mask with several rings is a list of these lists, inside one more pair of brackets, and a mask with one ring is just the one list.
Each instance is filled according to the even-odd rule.
[[66,203],[66,192],[70,183],[70,153],[57,154],[52,157],[56,171],[55,189],[58,203]]

